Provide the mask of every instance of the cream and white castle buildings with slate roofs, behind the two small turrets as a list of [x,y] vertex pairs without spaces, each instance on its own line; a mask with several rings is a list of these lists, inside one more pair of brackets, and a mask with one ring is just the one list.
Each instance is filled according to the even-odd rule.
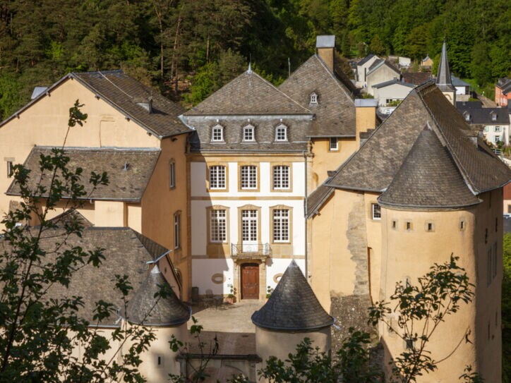
[[[157,267],[183,300],[192,287],[262,300],[294,260],[289,274],[299,278],[301,269],[336,317],[344,301],[365,308],[389,299],[396,281],[416,280],[453,253],[476,295],[445,321],[431,351],[440,358],[468,331],[473,340],[422,381],[455,381],[471,364],[499,382],[511,171],[456,111],[449,74],[444,44],[437,84],[414,88],[380,123],[375,100],[356,99],[337,70],[333,36],[319,36],[316,54],[279,87],[249,67],[188,111],[121,71],[71,73],[0,123],[8,169],[0,211],[18,202],[10,166],[25,162],[37,174],[33,159],[61,145],[68,100],[78,98],[89,118],[68,135],[71,164],[106,170],[113,181],[78,212],[169,249],[175,277]],[[269,326],[260,311],[254,323]],[[327,317],[320,324],[330,326]],[[378,330],[387,358],[406,347]]]

